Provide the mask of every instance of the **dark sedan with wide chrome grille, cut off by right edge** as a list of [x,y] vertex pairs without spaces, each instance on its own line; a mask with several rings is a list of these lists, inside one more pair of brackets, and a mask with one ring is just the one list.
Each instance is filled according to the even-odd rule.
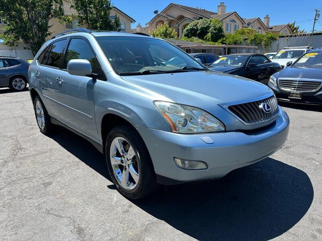
[[271,76],[268,86],[280,101],[322,105],[322,49],[303,54]]

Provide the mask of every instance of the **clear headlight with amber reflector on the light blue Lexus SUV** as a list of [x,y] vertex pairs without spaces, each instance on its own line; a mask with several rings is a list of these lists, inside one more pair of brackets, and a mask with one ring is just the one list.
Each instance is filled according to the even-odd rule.
[[171,126],[172,132],[192,134],[202,132],[222,132],[224,125],[202,109],[166,101],[154,101]]

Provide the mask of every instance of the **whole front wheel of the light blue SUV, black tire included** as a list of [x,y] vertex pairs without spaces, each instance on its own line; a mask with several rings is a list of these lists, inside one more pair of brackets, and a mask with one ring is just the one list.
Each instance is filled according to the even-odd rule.
[[106,138],[105,159],[112,181],[123,196],[140,199],[157,189],[150,155],[135,129],[112,129]]

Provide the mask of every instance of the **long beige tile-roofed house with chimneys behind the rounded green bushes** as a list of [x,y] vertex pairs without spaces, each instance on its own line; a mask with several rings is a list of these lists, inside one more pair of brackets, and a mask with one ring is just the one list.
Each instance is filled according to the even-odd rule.
[[[259,33],[279,33],[291,34],[287,24],[270,26],[268,15],[264,17],[264,22],[260,18],[243,19],[237,12],[226,13],[226,6],[220,3],[217,7],[217,13],[205,9],[192,8],[179,4],[169,4],[163,11],[156,14],[148,23],[148,32],[156,29],[160,24],[168,23],[170,27],[176,29],[178,36],[182,37],[183,30],[188,24],[199,19],[219,19],[225,33],[234,33],[241,28],[253,28]],[[140,32],[134,29],[134,32]]]

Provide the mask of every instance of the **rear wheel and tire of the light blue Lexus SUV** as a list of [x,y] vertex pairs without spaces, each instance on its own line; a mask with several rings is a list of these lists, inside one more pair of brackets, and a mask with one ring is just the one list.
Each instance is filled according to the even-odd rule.
[[54,125],[50,122],[50,116],[39,96],[34,99],[34,111],[40,132],[45,135],[52,133]]

